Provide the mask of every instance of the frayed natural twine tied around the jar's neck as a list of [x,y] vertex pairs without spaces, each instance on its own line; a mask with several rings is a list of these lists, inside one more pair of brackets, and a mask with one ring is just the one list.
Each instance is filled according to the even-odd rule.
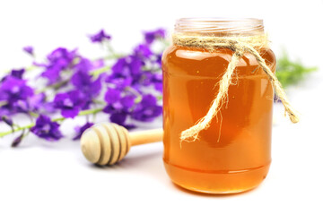
[[251,37],[209,37],[209,36],[196,36],[196,35],[183,35],[174,34],[173,43],[182,47],[202,47],[208,51],[213,52],[219,47],[225,47],[231,49],[234,54],[231,57],[231,61],[228,64],[228,68],[219,84],[219,92],[215,99],[212,101],[211,107],[207,111],[207,114],[196,122],[196,125],[191,126],[187,130],[180,133],[180,141],[196,141],[198,133],[207,129],[214,116],[220,111],[222,105],[227,101],[228,90],[231,85],[231,77],[237,64],[240,61],[241,56],[245,53],[250,53],[254,56],[272,83],[275,94],[282,101],[284,105],[285,114],[287,113],[292,123],[298,123],[300,118],[296,111],[289,103],[286,93],[282,87],[282,84],[278,81],[275,73],[266,65],[264,58],[260,56],[256,48],[267,47],[268,39],[266,35],[258,35]]

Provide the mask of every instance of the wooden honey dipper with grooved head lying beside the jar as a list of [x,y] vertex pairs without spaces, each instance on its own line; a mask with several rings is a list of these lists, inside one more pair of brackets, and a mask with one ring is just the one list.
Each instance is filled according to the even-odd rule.
[[129,133],[123,126],[101,123],[83,133],[81,149],[90,162],[113,165],[126,156],[131,146],[161,142],[162,134],[162,128]]

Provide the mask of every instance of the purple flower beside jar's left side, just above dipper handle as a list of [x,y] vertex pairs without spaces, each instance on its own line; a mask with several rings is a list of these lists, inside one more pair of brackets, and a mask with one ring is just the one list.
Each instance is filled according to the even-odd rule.
[[150,122],[162,114],[162,107],[157,104],[157,99],[153,95],[144,95],[140,103],[135,106],[132,118],[142,122]]

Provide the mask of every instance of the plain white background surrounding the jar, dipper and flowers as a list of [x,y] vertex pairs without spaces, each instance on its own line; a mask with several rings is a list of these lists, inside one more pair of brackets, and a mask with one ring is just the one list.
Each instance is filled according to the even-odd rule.
[[[78,142],[30,136],[17,149],[0,140],[0,214],[323,214],[323,1],[5,1],[0,2],[0,71],[31,64],[22,47],[38,56],[53,48],[102,53],[86,35],[101,28],[113,45],[130,50],[142,30],[165,27],[180,17],[256,17],[265,20],[277,56],[319,71],[288,89],[301,122],[292,125],[275,105],[272,166],[262,185],[248,193],[190,193],[170,182],[162,143],[135,147],[112,168],[83,159]],[[71,122],[64,125],[72,135]],[[161,126],[161,121],[152,126]],[[5,128],[1,127],[3,131]]]

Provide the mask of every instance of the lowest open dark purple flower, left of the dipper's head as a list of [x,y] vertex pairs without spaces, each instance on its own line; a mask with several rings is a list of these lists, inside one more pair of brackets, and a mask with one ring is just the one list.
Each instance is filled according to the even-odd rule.
[[63,137],[59,131],[59,124],[52,122],[48,116],[40,115],[36,125],[31,127],[31,132],[48,141],[57,141]]

